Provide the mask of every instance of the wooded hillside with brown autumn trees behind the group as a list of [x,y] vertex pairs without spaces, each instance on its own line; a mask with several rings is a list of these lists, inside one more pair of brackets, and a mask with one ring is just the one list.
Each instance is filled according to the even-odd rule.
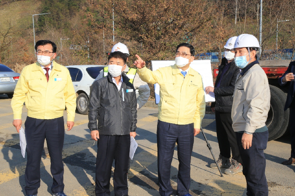
[[[262,58],[295,48],[294,8],[263,0]],[[20,72],[34,62],[34,34],[57,44],[62,65],[103,65],[118,42],[131,61],[173,60],[181,42],[221,54],[229,37],[259,38],[259,13],[260,0],[0,0],[0,63]]]

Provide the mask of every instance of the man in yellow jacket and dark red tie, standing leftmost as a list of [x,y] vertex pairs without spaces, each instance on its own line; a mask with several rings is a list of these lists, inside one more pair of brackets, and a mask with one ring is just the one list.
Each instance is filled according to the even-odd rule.
[[52,193],[63,193],[62,147],[64,140],[63,111],[67,110],[67,130],[74,126],[76,94],[67,68],[57,64],[57,46],[49,40],[35,45],[37,62],[26,66],[15,87],[11,100],[13,125],[19,132],[22,126],[24,102],[28,109],[25,122],[27,167],[25,172],[27,196],[37,196],[40,187],[40,161],[46,139],[53,176]]

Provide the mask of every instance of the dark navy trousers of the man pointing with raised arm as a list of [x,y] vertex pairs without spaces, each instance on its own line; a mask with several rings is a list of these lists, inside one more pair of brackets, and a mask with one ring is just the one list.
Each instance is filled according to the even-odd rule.
[[189,193],[190,187],[190,163],[194,145],[194,124],[178,125],[158,121],[158,178],[161,196],[170,196],[173,193],[170,183],[170,169],[175,143],[177,143],[179,161],[177,195],[183,196]]

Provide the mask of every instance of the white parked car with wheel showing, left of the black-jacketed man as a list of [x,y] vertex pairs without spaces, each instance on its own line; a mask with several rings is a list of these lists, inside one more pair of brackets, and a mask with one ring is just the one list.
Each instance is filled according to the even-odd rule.
[[88,114],[90,86],[104,65],[69,65],[73,85],[77,95],[77,111],[80,114]]

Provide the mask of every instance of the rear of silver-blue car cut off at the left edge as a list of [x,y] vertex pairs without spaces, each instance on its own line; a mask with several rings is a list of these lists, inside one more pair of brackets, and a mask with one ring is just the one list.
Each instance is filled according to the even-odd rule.
[[16,73],[9,67],[0,64],[0,95],[6,94],[8,98],[12,98],[15,85],[19,78],[19,73]]

